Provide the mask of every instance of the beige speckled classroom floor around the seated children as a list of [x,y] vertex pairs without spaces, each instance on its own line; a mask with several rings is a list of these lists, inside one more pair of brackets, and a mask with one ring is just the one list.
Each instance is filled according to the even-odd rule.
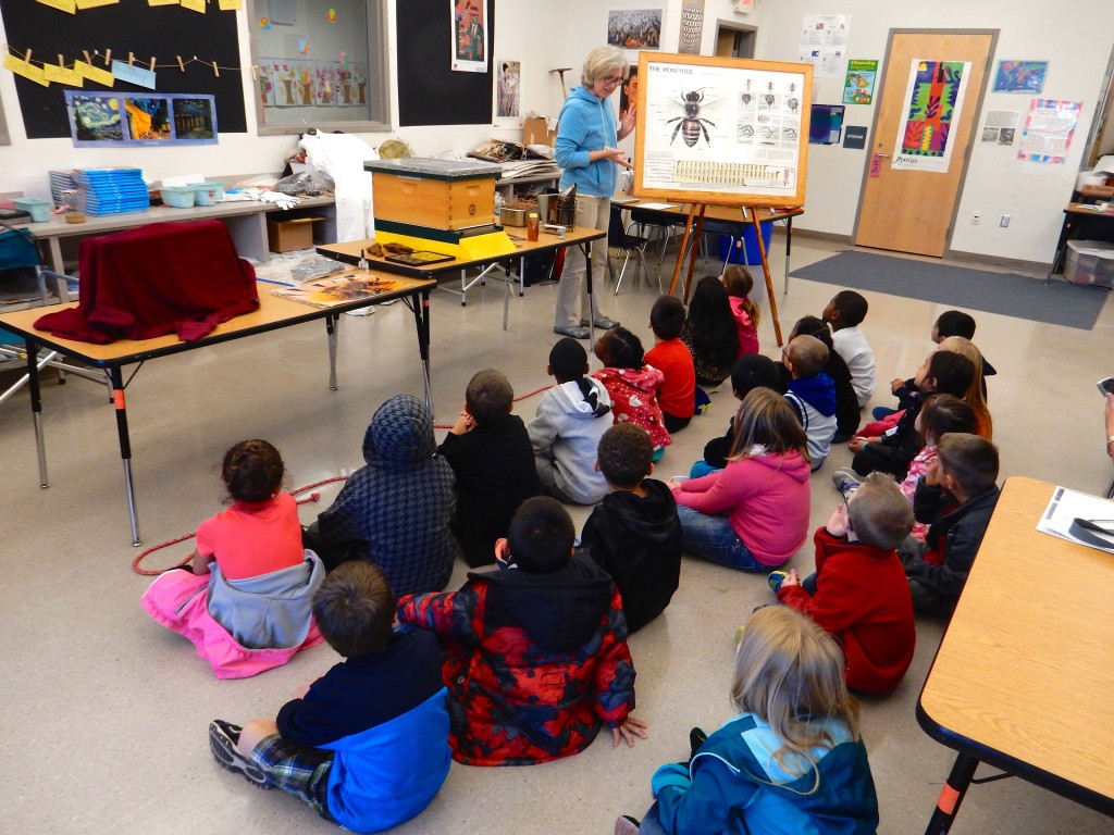
[[[793,265],[843,248],[799,235]],[[780,238],[773,253],[788,334],[797,317],[819,314],[839,288],[791,279],[782,295]],[[710,264],[706,272],[713,271],[719,266]],[[452,422],[465,384],[479,369],[501,369],[519,394],[547,385],[546,357],[557,338],[551,333],[555,292],[541,285],[512,297],[507,331],[500,330],[501,284],[470,292],[467,307],[458,296],[434,293],[439,423]],[[608,287],[604,310],[651,344],[646,322],[656,294],[656,284],[636,288],[628,278],[617,298]],[[911,375],[932,347],[929,328],[945,307],[892,296],[869,301],[863,330],[880,382],[872,404],[888,404],[886,381]],[[769,304],[763,302],[763,308],[762,347],[776,357]],[[1104,491],[1114,468],[1103,451],[1103,403],[1094,383],[1114,371],[1114,305],[1105,306],[1091,332],[973,313],[975,342],[998,369],[989,403],[1003,479],[1024,474]],[[221,509],[217,466],[235,441],[272,441],[286,460],[290,487],[296,488],[359,466],[373,410],[400,392],[421,395],[413,320],[401,304],[368,317],[344,317],[336,392],[325,384],[322,331],[319,323],[301,325],[157,360],[135,374],[128,413],[145,546],[190,533]],[[0,384],[11,376],[0,373]],[[657,470],[663,478],[687,472],[704,442],[724,431],[733,411],[731,392],[712,396],[711,411],[666,451]],[[0,625],[7,641],[0,676],[7,754],[0,758],[0,782],[8,786],[0,832],[335,832],[293,797],[260,792],[221,769],[209,754],[206,728],[213,718],[273,717],[297,684],[319,676],[336,656],[321,646],[256,678],[214,678],[186,640],[139,608],[150,578],[130,568],[138,549],[130,546],[106,390],[84,380],[65,386],[49,382],[43,402],[49,490],[38,488],[26,392],[0,405],[7,490],[0,502]],[[524,400],[517,412],[529,419],[536,403],[537,396]],[[830,474],[849,460],[840,446],[813,475],[813,528],[839,500]],[[335,491],[335,484],[322,488],[322,503],[304,505],[303,521],[311,521]],[[587,510],[573,513],[579,528]],[[147,564],[169,566],[189,549],[183,542],[152,554]],[[811,570],[811,544],[790,564]],[[450,588],[465,571],[458,563]],[[1076,581],[1063,573],[1048,578]],[[648,740],[616,750],[602,735],[584,754],[543,766],[455,763],[432,805],[397,832],[603,834],[612,832],[619,813],[641,816],[651,803],[651,775],[685,756],[688,728],[715,728],[731,716],[732,636],[755,606],[771,600],[764,577],[695,558],[685,558],[681,583],[666,612],[631,639],[636,715],[649,723]],[[902,685],[886,698],[863,701],[882,833],[924,831],[954,758],[925,735],[913,714],[940,636],[940,623],[919,621],[916,659]],[[1078,650],[1065,642],[1064,651]],[[1069,692],[1063,709],[1072,709]],[[980,834],[1110,831],[1108,818],[1018,779],[974,787],[954,828]]]

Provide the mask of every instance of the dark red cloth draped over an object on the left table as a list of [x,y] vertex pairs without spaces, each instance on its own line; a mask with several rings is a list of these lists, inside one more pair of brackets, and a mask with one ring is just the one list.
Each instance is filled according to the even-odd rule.
[[194,342],[260,306],[255,271],[236,255],[219,220],[86,238],[78,262],[78,306],[39,317],[37,328],[98,345],[168,333]]

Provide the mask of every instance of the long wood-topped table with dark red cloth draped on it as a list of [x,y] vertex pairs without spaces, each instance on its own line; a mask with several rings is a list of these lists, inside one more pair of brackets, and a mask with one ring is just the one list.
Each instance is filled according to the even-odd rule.
[[[136,363],[144,363],[147,360],[155,360],[160,356],[169,356],[170,354],[194,351],[222,342],[238,340],[244,336],[277,331],[292,325],[300,325],[303,322],[323,320],[329,341],[329,387],[335,391],[336,324],[339,316],[346,311],[401,298],[414,314],[414,326],[418,332],[418,351],[421,356],[422,372],[426,377],[426,402],[429,404],[429,294],[437,283],[423,278],[400,278],[399,281],[405,286],[390,293],[384,293],[381,296],[348,302],[328,310],[273,296],[271,295],[271,291],[274,289],[275,285],[261,282],[258,285],[260,308],[257,311],[245,313],[242,316],[236,316],[228,322],[217,325],[212,333],[196,342],[179,342],[175,334],[169,334],[153,340],[118,340],[107,345],[94,345],[88,342],[60,338],[45,331],[36,330],[35,321],[46,312],[41,307],[18,311],[0,316],[0,327],[4,327],[22,336],[27,342],[27,369],[30,375],[31,415],[35,422],[35,442],[39,455],[40,487],[49,487],[47,479],[46,441],[42,428],[42,401],[39,393],[39,369],[35,360],[40,347],[57,351],[66,356],[71,356],[75,360],[80,360],[89,365],[108,371],[113,385],[113,402],[116,409],[116,429],[120,442],[120,459],[124,462],[124,488],[127,493],[128,515],[131,521],[133,546],[140,544],[140,540],[135,489],[131,482],[131,442],[128,436],[127,405],[124,397],[126,384],[121,374],[121,369],[125,365],[135,365]],[[74,302],[69,306],[77,306],[77,303]],[[51,310],[57,311],[62,308],[53,307]]]

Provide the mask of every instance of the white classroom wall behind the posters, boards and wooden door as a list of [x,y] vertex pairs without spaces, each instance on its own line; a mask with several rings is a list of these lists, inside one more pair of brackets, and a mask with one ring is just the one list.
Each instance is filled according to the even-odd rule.
[[[394,22],[390,0],[391,65],[393,66]],[[608,8],[652,8],[645,0],[496,0],[495,60],[522,62],[522,112],[556,116],[561,104],[557,76],[549,70],[571,67],[566,82],[575,85],[584,56],[599,46],[606,33]],[[447,3],[448,4],[448,3]],[[676,49],[681,0],[659,0],[665,9],[662,47]],[[1059,232],[1062,208],[1068,200],[1083,155],[1083,143],[1091,127],[1103,75],[1114,46],[1114,3],[1108,0],[1072,2],[1025,2],[1016,0],[937,0],[932,4],[880,3],[873,0],[758,0],[750,14],[736,14],[731,0],[706,0],[703,52],[714,51],[716,20],[734,20],[758,27],[755,57],[764,60],[795,61],[801,19],[807,13],[851,16],[848,57],[883,60],[890,29],[999,29],[999,58],[1048,60],[1045,98],[1083,101],[1083,116],[1066,165],[1020,163],[1017,146],[998,147],[976,143],[967,180],[959,204],[958,224],[951,247],[957,252],[989,257],[1047,262]],[[243,63],[248,63],[246,12],[240,12]],[[2,37],[2,32],[0,32]],[[446,48],[448,51],[448,48]],[[634,56],[632,56],[634,58]],[[885,69],[880,67],[880,70]],[[251,70],[243,71],[247,121],[254,125],[255,97]],[[407,84],[398,85],[407,95],[420,95]],[[842,79],[818,79],[814,98],[839,101]],[[22,190],[48,196],[46,171],[49,168],[89,165],[139,165],[149,178],[202,171],[209,175],[248,174],[277,170],[296,146],[295,137],[258,137],[254,127],[247,134],[224,134],[216,149],[170,147],[140,150],[74,148],[69,139],[28,140],[16,98],[11,73],[0,72],[0,98],[8,116],[12,137],[10,147],[0,147],[0,190]],[[618,98],[617,96],[615,97]],[[1020,110],[1028,98],[1020,95],[987,94],[984,111]],[[392,92],[392,120],[398,120],[398,100]],[[848,124],[869,127],[873,106],[849,107]],[[981,115],[976,122],[981,126]],[[407,139],[421,156],[444,150],[461,154],[488,138],[518,139],[517,127],[463,125],[404,128],[397,134]],[[370,145],[385,136],[363,135]],[[633,140],[628,139],[633,153]],[[868,141],[869,147],[869,141]],[[854,226],[862,181],[864,150],[841,146],[810,146],[808,204],[805,215],[794,223],[798,228],[849,236]],[[983,223],[967,220],[979,212]],[[1012,215],[1009,228],[997,225],[1000,215]]]

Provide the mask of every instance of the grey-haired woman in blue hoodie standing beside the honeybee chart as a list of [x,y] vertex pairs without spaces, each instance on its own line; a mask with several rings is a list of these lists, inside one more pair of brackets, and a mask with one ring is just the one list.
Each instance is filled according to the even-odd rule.
[[[615,111],[607,102],[623,84],[626,73],[627,62],[622,51],[614,47],[592,50],[584,60],[580,87],[569,94],[557,119],[557,165],[564,169],[560,187],[565,189],[576,186],[578,227],[607,230],[617,167],[632,167],[626,154],[615,146],[619,139],[634,132],[636,102],[631,102],[617,129]],[[577,315],[577,296],[583,295],[586,262],[584,252],[577,246],[570,246],[565,252],[565,268],[554,312],[554,333],[586,340],[589,316],[596,327],[605,331],[615,327],[618,322],[606,316],[595,301],[595,310],[589,314],[586,295],[582,298],[584,313],[582,316]],[[597,282],[603,278],[606,265],[607,239],[594,240],[592,271]]]

